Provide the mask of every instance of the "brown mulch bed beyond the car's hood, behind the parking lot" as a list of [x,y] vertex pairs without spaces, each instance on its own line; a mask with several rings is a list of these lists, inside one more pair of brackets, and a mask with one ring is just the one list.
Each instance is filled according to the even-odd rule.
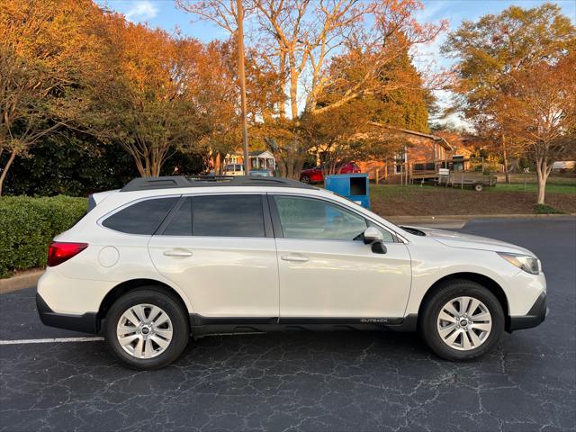
[[[534,213],[535,193],[434,186],[372,186],[372,210],[382,216]],[[546,193],[546,204],[576,213],[576,194]]]

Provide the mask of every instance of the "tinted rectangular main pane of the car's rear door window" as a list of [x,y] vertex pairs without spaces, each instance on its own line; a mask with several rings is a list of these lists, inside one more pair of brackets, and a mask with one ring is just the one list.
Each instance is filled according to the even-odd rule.
[[194,196],[194,236],[266,237],[261,195]]

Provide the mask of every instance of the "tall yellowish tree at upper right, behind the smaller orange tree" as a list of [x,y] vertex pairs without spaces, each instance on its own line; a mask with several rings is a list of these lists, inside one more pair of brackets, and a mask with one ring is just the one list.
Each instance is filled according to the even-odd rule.
[[476,22],[464,21],[448,35],[442,52],[458,60],[458,108],[478,133],[499,140],[507,182],[509,152],[521,146],[511,140],[494,103],[506,91],[511,73],[541,61],[554,64],[574,48],[574,26],[556,4],[510,6]]

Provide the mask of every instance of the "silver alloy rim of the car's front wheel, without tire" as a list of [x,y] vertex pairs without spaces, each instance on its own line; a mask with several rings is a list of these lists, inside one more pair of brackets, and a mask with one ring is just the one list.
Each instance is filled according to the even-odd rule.
[[478,299],[457,297],[440,310],[437,329],[448,347],[469,351],[480,347],[490,336],[491,313]]

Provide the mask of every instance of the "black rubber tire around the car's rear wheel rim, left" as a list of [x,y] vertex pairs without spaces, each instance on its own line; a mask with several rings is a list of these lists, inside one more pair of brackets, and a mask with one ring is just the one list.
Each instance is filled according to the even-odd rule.
[[[166,312],[172,323],[173,334],[168,347],[164,352],[152,358],[131,356],[121,347],[116,336],[116,329],[122,314],[130,307],[138,304],[150,304],[159,307]],[[104,336],[112,355],[122,365],[139,371],[159,369],[174,362],[188,344],[190,338],[188,315],[174,295],[165,293],[155,286],[143,286],[136,291],[122,295],[113,303],[106,316]]]

